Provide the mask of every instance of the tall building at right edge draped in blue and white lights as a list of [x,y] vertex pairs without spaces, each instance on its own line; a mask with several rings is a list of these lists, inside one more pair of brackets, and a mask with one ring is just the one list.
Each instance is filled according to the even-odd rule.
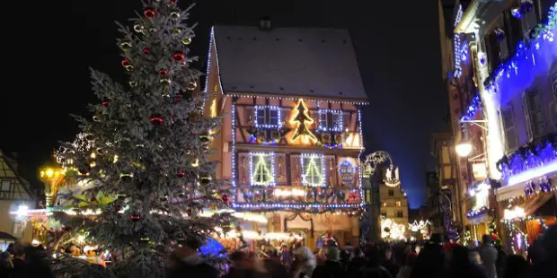
[[457,1],[454,11],[447,87],[464,225],[524,254],[555,216],[544,207],[555,202],[557,4]]

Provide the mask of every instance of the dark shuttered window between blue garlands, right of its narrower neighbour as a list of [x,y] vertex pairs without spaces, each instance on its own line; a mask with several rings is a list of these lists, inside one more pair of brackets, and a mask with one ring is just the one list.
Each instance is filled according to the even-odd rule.
[[542,94],[535,88],[527,90],[523,95],[528,139],[534,140],[545,133],[544,112],[542,110]]

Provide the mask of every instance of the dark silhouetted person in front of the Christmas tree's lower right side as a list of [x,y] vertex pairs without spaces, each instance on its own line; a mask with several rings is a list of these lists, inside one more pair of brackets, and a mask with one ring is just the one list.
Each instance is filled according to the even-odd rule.
[[218,272],[211,265],[204,263],[198,256],[201,242],[198,239],[186,239],[179,242],[172,252],[175,265],[169,270],[168,278],[178,278],[184,275],[190,277],[217,278]]

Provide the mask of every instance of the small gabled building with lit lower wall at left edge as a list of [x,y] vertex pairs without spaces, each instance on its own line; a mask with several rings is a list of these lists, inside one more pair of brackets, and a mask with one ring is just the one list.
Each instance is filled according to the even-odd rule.
[[31,241],[31,222],[15,213],[25,214],[34,205],[29,182],[17,173],[16,161],[0,150],[0,250],[15,239]]

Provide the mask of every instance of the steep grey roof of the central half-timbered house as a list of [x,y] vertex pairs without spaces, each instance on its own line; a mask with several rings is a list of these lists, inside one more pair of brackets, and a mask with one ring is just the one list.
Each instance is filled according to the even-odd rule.
[[225,92],[367,101],[347,30],[215,26]]

